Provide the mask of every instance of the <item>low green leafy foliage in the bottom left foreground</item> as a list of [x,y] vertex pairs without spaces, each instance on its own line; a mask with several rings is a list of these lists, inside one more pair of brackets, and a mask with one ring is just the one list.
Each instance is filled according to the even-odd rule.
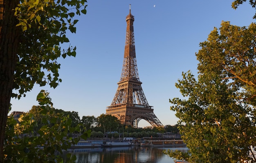
[[[60,154],[63,150],[67,151],[79,141],[80,137],[73,138],[70,133],[78,132],[82,124],[72,127],[72,119],[69,116],[65,116],[64,112],[55,113],[47,92],[40,92],[37,98],[40,106],[34,108],[40,109],[43,125],[34,130],[38,121],[32,113],[20,116],[18,123],[13,118],[8,118],[8,130],[4,138],[5,162],[61,163],[63,159]],[[51,118],[49,115],[52,115]],[[88,136],[90,131],[83,133],[81,138],[86,139]],[[66,156],[69,163],[76,160],[75,155],[68,153]]]

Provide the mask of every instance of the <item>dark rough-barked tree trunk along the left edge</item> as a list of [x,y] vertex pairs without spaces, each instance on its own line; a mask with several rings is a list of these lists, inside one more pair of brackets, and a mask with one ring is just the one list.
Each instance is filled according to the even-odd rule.
[[13,89],[17,59],[18,27],[14,16],[19,0],[0,0],[0,162],[3,162],[4,133]]

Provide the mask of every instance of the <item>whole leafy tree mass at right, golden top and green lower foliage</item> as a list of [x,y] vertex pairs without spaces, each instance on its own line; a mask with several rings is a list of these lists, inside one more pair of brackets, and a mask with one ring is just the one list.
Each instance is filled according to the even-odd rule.
[[[176,87],[186,100],[174,98],[179,130],[190,149],[182,155],[190,162],[254,162],[256,25],[248,28],[222,22],[200,43],[198,80],[183,73]],[[180,157],[180,153],[167,152]],[[174,154],[174,155],[173,155]]]

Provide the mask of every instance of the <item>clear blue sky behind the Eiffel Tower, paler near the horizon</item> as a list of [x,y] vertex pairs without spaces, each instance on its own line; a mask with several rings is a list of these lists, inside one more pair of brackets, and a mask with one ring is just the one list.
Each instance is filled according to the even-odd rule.
[[[149,105],[163,125],[178,119],[169,99],[182,97],[175,87],[182,71],[197,75],[195,53],[222,20],[248,26],[255,10],[248,4],[231,8],[233,0],[88,0],[87,14],[77,17],[76,34],[68,33],[76,57],[60,58],[62,83],[56,88],[34,87],[25,98],[12,99],[12,110],[28,112],[38,105],[41,89],[50,92],[57,109],[82,116],[99,116],[110,106],[121,77],[126,16],[135,16],[137,67]],[[65,48],[65,45],[62,47]],[[144,120],[139,127],[149,126]]]

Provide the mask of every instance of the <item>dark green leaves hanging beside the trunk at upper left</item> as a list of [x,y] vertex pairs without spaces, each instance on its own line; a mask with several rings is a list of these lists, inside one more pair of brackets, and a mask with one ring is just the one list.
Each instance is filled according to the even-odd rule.
[[[18,60],[14,74],[13,88],[20,98],[30,91],[34,84],[44,86],[47,83],[56,87],[60,64],[57,58],[76,56],[76,47],[61,49],[60,45],[69,42],[67,30],[76,32],[74,26],[78,20],[75,15],[86,13],[86,0],[21,0],[15,8],[18,19],[16,26],[21,27]],[[46,74],[47,73],[47,74]]]

